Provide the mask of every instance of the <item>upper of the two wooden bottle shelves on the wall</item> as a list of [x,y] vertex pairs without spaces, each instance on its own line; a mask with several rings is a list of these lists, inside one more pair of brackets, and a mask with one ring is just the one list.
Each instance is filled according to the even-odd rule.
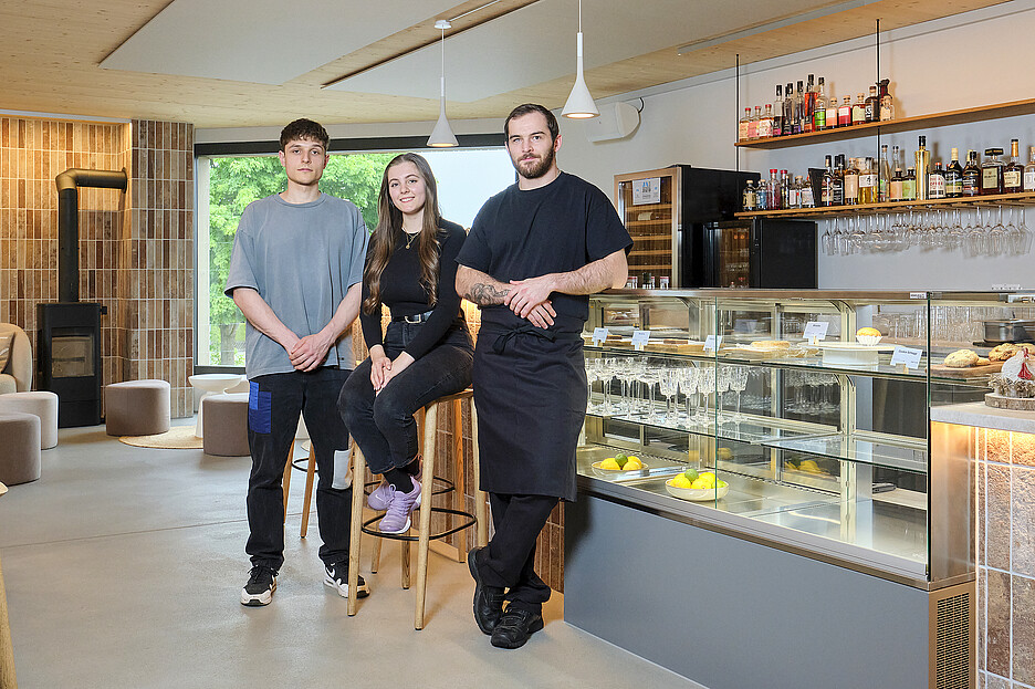
[[944,127],[970,122],[997,119],[1000,117],[1031,115],[1033,113],[1035,113],[1035,98],[1028,98],[1026,101],[1012,101],[997,105],[983,105],[981,107],[948,111],[944,113],[934,113],[932,115],[902,117],[901,119],[889,119],[887,122],[871,122],[868,124],[855,125],[854,127],[839,127],[836,129],[809,132],[808,134],[793,134],[791,136],[755,139],[752,142],[736,142],[734,146],[740,148],[786,148],[790,146],[805,146],[807,144],[840,142],[877,133],[895,134],[897,132],[910,132],[928,127]]

